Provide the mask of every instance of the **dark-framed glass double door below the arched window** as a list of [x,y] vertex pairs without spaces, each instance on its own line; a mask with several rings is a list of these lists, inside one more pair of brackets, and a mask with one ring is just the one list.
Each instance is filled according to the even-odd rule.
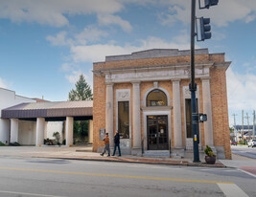
[[148,149],[168,150],[167,116],[148,116]]

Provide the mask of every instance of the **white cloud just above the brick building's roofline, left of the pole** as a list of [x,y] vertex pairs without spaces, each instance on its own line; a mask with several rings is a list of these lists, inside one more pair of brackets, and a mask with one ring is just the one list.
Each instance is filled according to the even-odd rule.
[[[189,48],[189,35],[184,31],[172,41],[166,41],[159,37],[149,36],[146,39],[139,39],[136,41],[138,46],[125,44],[120,46],[114,42],[109,42],[107,44],[87,44],[87,45],[70,45],[70,62],[65,62],[61,65],[61,71],[66,72],[65,78],[71,82],[75,83],[79,76],[81,75],[81,65],[82,69],[88,69],[92,66],[92,62],[104,61],[106,55],[128,55],[132,52],[143,51],[148,49],[188,49]],[[64,41],[64,43],[66,43]],[[79,43],[75,41],[73,43]],[[84,66],[84,63],[88,66]],[[83,72],[84,73],[84,72]],[[87,70],[86,81],[92,86],[92,72]]]

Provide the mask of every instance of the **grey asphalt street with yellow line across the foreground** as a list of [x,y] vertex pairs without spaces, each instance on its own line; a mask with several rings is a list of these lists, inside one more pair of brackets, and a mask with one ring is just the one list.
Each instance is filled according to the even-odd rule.
[[256,196],[235,168],[0,157],[0,196]]

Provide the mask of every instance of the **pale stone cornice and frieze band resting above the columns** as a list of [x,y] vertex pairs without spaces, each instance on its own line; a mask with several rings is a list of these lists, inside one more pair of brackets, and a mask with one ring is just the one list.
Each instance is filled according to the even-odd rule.
[[[228,62],[198,62],[196,78],[210,77],[210,69],[227,69]],[[93,71],[95,75],[105,77],[105,83],[123,83],[139,81],[181,80],[190,78],[190,64],[165,64],[156,66],[124,67]]]

